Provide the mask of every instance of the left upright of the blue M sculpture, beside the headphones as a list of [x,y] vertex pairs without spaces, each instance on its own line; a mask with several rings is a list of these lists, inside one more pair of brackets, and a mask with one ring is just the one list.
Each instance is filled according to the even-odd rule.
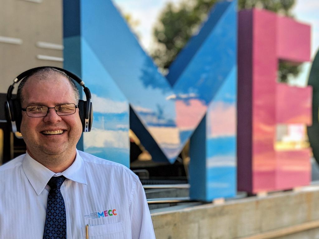
[[81,4],[63,1],[64,68],[80,76],[92,93],[92,130],[83,134],[78,148],[129,167],[129,103],[89,44],[94,40],[91,32],[98,32],[99,26],[80,10]]

